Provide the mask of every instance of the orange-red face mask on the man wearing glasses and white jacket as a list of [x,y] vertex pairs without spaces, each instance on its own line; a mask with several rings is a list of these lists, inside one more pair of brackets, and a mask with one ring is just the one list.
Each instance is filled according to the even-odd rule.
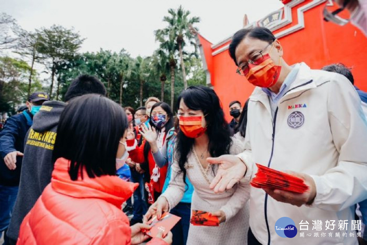
[[[265,54],[259,65],[248,63],[248,73],[245,74],[248,82],[258,87],[269,88],[279,79],[281,66],[275,65],[269,54]],[[280,57],[279,57],[280,64]]]

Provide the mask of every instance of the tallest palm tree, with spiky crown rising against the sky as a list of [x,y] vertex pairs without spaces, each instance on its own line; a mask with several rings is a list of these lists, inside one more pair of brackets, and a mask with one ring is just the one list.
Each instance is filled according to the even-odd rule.
[[[195,23],[200,22],[199,17],[189,17],[190,11],[184,10],[180,5],[177,10],[170,8],[168,10],[168,16],[163,18],[163,21],[168,23],[168,26],[164,29],[158,30],[157,32],[163,37],[165,40],[175,39],[175,42],[178,45],[179,58],[182,69],[182,79],[183,85],[185,89],[187,88],[187,80],[186,80],[186,71],[185,71],[185,62],[183,61],[183,47],[186,43],[190,43],[195,47],[196,52],[196,43],[194,42],[194,35],[190,31],[190,26]],[[195,28],[197,30],[197,28]]]

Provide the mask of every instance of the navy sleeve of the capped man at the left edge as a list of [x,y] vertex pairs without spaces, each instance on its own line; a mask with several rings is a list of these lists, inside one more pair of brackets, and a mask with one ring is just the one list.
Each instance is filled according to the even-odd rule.
[[17,151],[14,147],[15,139],[18,137],[19,121],[14,116],[6,121],[0,132],[0,156],[4,158],[8,153]]

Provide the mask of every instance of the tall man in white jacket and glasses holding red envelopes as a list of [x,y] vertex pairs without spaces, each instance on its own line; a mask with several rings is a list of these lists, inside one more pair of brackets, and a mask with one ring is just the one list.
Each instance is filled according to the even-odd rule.
[[[243,176],[250,181],[255,163],[290,171],[309,186],[304,194],[251,187],[248,244],[358,244],[354,209],[367,198],[367,122],[352,84],[304,63],[289,66],[266,28],[239,30],[229,52],[237,72],[257,87],[248,103],[246,150],[208,158],[220,164],[211,188],[225,191]],[[281,227],[282,217],[292,221]],[[281,235],[278,228],[292,223],[295,236]]]

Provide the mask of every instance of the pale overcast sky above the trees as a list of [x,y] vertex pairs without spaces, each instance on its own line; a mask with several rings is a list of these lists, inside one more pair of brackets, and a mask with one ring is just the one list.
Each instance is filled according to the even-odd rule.
[[0,0],[0,11],[26,30],[74,27],[86,38],[81,51],[125,48],[135,57],[153,53],[153,31],[165,26],[168,8],[180,4],[201,18],[199,32],[212,43],[240,29],[244,14],[253,22],[282,7],[279,0]]

